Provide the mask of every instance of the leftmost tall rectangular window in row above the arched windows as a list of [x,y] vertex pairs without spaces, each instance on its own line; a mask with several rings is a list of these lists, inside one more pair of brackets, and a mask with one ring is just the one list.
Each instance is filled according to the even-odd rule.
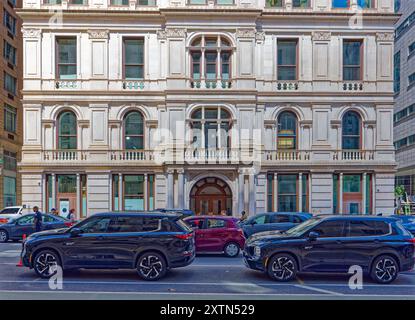
[[59,79],[76,79],[76,38],[58,38],[57,75]]

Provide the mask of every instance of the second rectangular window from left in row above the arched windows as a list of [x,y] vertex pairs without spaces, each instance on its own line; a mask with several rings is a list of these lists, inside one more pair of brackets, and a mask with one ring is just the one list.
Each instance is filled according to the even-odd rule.
[[144,78],[144,39],[124,39],[124,78]]

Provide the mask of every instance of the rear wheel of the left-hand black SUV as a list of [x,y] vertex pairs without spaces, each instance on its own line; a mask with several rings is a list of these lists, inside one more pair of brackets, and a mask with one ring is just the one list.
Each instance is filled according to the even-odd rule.
[[137,271],[144,280],[158,280],[167,272],[166,260],[159,253],[146,252],[138,258]]

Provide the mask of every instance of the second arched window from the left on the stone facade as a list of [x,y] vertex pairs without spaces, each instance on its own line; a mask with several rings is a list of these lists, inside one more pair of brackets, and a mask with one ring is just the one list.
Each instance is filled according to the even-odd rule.
[[127,150],[144,149],[144,117],[141,112],[129,112],[124,118],[124,147]]

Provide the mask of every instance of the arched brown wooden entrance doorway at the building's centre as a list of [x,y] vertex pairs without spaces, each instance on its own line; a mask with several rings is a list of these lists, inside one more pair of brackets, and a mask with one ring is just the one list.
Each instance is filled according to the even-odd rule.
[[232,215],[232,191],[219,178],[199,180],[190,191],[190,209],[196,214]]

